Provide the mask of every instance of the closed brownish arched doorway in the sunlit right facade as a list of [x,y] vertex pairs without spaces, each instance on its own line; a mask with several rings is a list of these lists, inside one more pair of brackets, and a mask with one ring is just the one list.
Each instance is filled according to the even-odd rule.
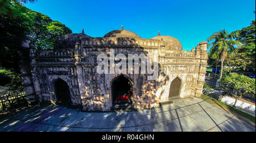
[[176,77],[172,82],[170,86],[170,92],[169,92],[169,100],[174,98],[180,97],[180,89],[181,89],[181,80]]

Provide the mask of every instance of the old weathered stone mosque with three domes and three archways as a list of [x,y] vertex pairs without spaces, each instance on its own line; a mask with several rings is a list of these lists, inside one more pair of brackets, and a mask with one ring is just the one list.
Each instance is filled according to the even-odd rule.
[[[176,98],[200,98],[207,68],[207,44],[201,41],[195,49],[183,51],[179,40],[160,32],[143,39],[123,27],[104,37],[90,37],[82,30],[59,37],[53,49],[35,49],[25,40],[23,47],[30,51],[31,74],[24,74],[27,68],[20,71],[30,102],[77,105],[83,111],[141,110],[171,103]],[[100,54],[108,57],[106,73],[97,72]],[[135,65],[121,73],[109,72],[115,71],[111,56],[129,54],[151,55],[150,68],[154,73],[141,72],[142,59],[139,72],[135,72]],[[118,60],[112,65],[118,65]],[[149,78],[153,74],[155,78]]]

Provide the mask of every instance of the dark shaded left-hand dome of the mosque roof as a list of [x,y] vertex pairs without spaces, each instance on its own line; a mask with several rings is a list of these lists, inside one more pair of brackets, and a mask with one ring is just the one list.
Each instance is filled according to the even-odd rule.
[[85,33],[69,33],[56,40],[54,49],[75,48],[77,37],[90,37]]

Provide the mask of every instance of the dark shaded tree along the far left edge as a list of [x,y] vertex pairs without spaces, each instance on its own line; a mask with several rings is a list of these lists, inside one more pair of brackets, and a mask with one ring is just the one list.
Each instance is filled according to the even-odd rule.
[[20,1],[0,0],[0,67],[19,73],[23,37],[30,31],[32,16]]

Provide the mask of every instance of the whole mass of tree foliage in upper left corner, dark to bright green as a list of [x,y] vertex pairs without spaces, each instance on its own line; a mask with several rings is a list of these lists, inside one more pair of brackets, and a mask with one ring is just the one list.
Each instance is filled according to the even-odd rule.
[[[72,33],[60,22],[22,5],[34,0],[0,0],[0,67],[19,73],[20,46],[27,35],[36,47],[52,48],[57,36]],[[27,54],[28,56],[28,54]]]

